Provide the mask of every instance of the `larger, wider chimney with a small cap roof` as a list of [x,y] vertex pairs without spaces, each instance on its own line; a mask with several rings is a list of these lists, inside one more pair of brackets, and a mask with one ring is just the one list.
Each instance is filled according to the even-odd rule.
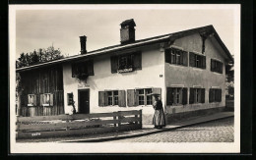
[[120,24],[121,44],[127,44],[135,41],[136,24],[133,19],[126,20]]

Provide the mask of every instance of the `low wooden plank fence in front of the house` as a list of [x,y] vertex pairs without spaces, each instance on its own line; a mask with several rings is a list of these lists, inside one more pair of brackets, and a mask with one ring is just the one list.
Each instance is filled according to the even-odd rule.
[[142,110],[18,117],[17,138],[56,137],[142,129]]

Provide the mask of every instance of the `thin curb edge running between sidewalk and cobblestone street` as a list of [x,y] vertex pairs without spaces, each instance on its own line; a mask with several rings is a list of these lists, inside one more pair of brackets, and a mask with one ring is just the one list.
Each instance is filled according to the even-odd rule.
[[91,139],[83,139],[83,140],[61,140],[61,141],[58,141],[58,142],[103,142],[103,141],[119,140],[119,139],[139,137],[139,136],[144,136],[144,135],[149,135],[149,134],[154,134],[154,133],[169,132],[169,131],[172,131],[172,130],[177,130],[177,129],[182,129],[182,128],[191,127],[191,126],[195,126],[195,125],[205,124],[205,123],[209,123],[209,122],[213,122],[213,121],[217,121],[217,120],[224,120],[224,119],[231,118],[231,117],[234,117],[234,116],[233,115],[232,116],[226,116],[226,117],[222,117],[222,118],[218,118],[218,119],[208,120],[208,121],[204,121],[204,122],[198,122],[198,123],[194,123],[194,124],[183,125],[183,126],[169,128],[169,129],[163,129],[163,130],[160,130],[160,131],[154,131],[154,132],[149,132],[149,133],[124,134],[124,135],[120,135],[120,136],[108,136],[108,137],[102,137],[102,138],[91,138]]

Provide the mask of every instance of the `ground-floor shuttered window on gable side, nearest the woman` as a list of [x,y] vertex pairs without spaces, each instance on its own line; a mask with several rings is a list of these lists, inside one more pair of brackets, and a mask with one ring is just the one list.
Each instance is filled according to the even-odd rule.
[[185,105],[187,104],[186,87],[167,87],[166,92],[167,105]]

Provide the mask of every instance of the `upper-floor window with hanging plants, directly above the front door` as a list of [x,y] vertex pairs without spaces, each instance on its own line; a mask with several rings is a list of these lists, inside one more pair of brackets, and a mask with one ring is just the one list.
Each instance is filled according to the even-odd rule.
[[72,64],[72,78],[94,76],[94,61],[85,61]]

